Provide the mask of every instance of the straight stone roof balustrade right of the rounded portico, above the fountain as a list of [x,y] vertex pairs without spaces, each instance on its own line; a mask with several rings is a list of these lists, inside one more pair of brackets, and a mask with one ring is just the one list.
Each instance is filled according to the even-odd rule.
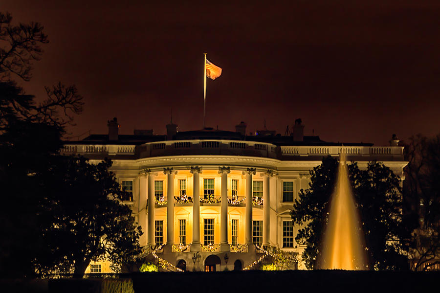
[[281,146],[283,156],[339,156],[345,153],[349,156],[402,156],[400,146]]

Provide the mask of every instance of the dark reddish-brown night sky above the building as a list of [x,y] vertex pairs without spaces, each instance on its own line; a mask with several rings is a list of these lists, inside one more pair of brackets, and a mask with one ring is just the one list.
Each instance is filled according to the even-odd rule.
[[61,81],[84,96],[72,135],[106,134],[114,116],[120,134],[164,134],[171,108],[179,131],[201,129],[203,52],[223,68],[207,126],[265,119],[284,134],[302,118],[305,135],[378,145],[440,132],[438,0],[1,2],[49,36],[25,90]]

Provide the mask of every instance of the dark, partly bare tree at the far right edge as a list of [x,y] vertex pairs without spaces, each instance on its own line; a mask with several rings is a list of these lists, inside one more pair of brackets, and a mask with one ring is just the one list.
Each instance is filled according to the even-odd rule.
[[440,264],[440,135],[416,135],[405,146],[404,199],[413,220],[409,243],[414,270]]

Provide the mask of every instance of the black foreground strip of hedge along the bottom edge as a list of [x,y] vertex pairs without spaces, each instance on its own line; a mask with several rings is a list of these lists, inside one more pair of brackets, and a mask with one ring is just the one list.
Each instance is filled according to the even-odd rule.
[[[440,271],[226,271],[121,274],[135,293],[145,292],[420,292],[439,290]],[[128,293],[120,285],[101,289],[102,279],[0,280],[0,292]],[[131,283],[131,282],[129,282]],[[101,287],[100,287],[101,286]],[[113,289],[111,289],[111,288]],[[131,285],[130,285],[131,287]],[[123,289],[123,290],[121,290]]]

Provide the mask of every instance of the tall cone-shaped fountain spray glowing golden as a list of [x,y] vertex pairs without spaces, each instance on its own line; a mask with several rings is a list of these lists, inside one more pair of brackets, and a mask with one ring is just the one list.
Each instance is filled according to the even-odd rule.
[[364,235],[354,203],[345,154],[341,152],[329,221],[318,258],[322,270],[366,270]]

